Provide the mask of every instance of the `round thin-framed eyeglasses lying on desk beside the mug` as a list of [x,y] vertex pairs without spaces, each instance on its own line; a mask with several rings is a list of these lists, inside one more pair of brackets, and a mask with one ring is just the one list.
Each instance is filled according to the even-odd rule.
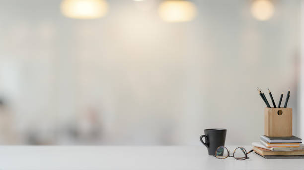
[[249,152],[246,152],[246,149],[243,147],[238,147],[233,151],[232,156],[230,156],[230,151],[225,146],[219,146],[216,150],[215,157],[219,159],[225,159],[228,157],[233,157],[237,160],[245,160],[249,159],[247,154],[252,152],[253,150],[250,150]]

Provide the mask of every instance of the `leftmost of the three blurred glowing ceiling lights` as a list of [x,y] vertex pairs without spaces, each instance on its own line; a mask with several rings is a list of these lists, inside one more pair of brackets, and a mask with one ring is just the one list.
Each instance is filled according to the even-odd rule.
[[66,17],[94,19],[107,13],[108,3],[105,0],[63,0],[60,9]]

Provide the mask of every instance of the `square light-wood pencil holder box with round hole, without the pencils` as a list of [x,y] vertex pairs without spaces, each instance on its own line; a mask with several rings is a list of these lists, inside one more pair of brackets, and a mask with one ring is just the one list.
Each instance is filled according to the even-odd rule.
[[269,137],[285,137],[293,135],[292,108],[265,108],[264,131]]

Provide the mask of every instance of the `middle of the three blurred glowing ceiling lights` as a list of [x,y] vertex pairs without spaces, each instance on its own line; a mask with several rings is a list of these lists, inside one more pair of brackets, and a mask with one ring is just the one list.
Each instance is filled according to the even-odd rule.
[[196,16],[196,6],[187,0],[165,0],[159,5],[158,14],[167,22],[186,22]]

